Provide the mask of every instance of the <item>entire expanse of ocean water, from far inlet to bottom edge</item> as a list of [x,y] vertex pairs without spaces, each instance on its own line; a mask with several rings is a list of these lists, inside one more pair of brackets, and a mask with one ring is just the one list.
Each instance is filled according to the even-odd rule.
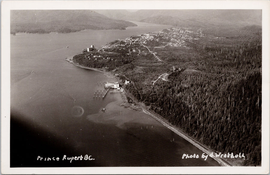
[[11,167],[219,166],[149,115],[119,106],[120,94],[93,98],[104,89],[98,82],[113,78],[64,60],[92,44],[170,27],[136,23],[126,30],[10,35]]

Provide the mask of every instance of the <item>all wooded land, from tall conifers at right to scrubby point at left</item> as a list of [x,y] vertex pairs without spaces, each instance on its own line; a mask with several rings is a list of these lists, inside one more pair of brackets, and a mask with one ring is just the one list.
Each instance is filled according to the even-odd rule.
[[[138,101],[188,135],[217,152],[244,153],[244,166],[261,165],[262,29],[252,25],[219,32],[226,37],[213,33],[186,47],[152,47],[163,63],[150,53],[128,50],[118,50],[113,59],[82,54],[73,60],[108,67],[131,80],[125,89]],[[153,85],[166,72],[167,81]]]

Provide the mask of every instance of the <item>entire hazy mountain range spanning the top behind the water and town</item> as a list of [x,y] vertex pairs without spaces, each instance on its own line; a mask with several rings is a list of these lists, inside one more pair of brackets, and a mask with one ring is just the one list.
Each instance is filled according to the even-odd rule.
[[262,25],[262,10],[11,10],[10,33],[125,29],[129,21],[204,30]]

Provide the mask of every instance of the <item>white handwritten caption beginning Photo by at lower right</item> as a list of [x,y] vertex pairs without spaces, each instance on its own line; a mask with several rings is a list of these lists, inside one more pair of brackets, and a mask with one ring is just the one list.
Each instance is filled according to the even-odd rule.
[[217,154],[217,153],[211,153],[211,154],[206,154],[206,153],[203,153],[201,156],[199,156],[199,154],[191,154],[191,155],[189,155],[189,154],[183,154],[183,156],[182,156],[182,159],[191,159],[191,158],[195,158],[195,159],[198,159],[199,157],[200,158],[202,158],[202,159],[204,159],[204,160],[206,160],[207,158],[208,158],[208,156],[209,157],[220,157],[220,158],[232,158],[232,159],[235,159],[235,158],[242,158],[242,159],[244,159],[245,158],[245,156],[244,156],[244,153],[239,153],[239,154],[233,154],[233,153],[228,153],[228,154],[221,154],[221,153],[219,153],[219,154]]

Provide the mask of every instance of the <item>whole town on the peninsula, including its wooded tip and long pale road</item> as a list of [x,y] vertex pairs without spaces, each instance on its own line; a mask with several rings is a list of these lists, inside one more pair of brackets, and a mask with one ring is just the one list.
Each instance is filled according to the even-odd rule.
[[201,29],[191,31],[172,27],[159,32],[115,40],[100,48],[91,45],[89,48],[82,49],[82,54],[75,55],[73,61],[80,65],[107,71],[128,64],[138,57],[152,57],[154,60],[163,63],[164,60],[160,58],[160,52],[163,48],[167,46],[188,47],[194,40],[199,40],[200,37],[204,36]]

